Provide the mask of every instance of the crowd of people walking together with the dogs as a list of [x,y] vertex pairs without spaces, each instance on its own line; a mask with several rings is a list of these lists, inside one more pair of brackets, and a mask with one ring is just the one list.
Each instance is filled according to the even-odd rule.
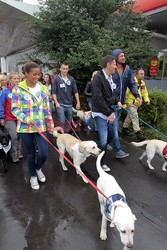
[[[47,159],[48,145],[41,133],[45,136],[46,131],[52,133],[55,124],[69,133],[72,107],[74,105],[77,110],[81,108],[76,81],[68,72],[68,63],[62,62],[60,73],[53,80],[48,73],[43,76],[35,62],[28,62],[22,68],[22,77],[17,72],[0,75],[0,124],[6,127],[11,136],[10,154],[14,163],[23,158],[22,141],[27,152],[30,184],[35,190],[40,188],[40,182],[46,181],[42,166]],[[132,122],[138,140],[145,139],[136,118],[142,101],[150,104],[144,70],[138,69],[133,77],[130,67],[126,65],[124,52],[116,49],[112,55],[102,59],[102,69],[93,72],[91,81],[85,87],[92,111],[89,122],[94,123],[99,148],[106,151],[112,142],[116,158],[128,157],[119,139],[119,117],[122,107],[126,105],[130,112],[123,123],[122,132],[127,134]],[[58,120],[55,124],[53,110]],[[105,155],[102,168],[110,171]]]

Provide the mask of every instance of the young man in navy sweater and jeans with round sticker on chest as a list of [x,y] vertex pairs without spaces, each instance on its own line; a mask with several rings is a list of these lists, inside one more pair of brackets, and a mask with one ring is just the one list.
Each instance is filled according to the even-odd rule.
[[58,74],[52,84],[52,98],[56,107],[59,125],[65,132],[69,132],[72,120],[72,96],[76,101],[76,109],[80,109],[80,100],[75,79],[68,74],[69,65],[66,62],[60,64]]

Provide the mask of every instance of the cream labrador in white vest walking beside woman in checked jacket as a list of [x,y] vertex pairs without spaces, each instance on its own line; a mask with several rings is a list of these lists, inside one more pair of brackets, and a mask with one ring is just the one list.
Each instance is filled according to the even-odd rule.
[[[97,147],[94,141],[80,141],[70,134],[59,134],[57,131],[53,132],[53,136],[57,137],[57,146],[59,150],[65,154],[67,151],[70,157],[73,159],[77,174],[84,174],[80,168],[80,165],[86,161],[90,155],[98,156],[101,150]],[[64,158],[60,155],[59,161],[64,171],[68,171],[64,164]],[[88,181],[81,175],[83,181]]]

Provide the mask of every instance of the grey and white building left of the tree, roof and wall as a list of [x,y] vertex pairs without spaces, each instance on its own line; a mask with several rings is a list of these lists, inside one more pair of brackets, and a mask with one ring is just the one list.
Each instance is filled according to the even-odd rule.
[[0,71],[21,73],[20,63],[33,51],[25,21],[39,11],[38,6],[15,0],[0,0]]

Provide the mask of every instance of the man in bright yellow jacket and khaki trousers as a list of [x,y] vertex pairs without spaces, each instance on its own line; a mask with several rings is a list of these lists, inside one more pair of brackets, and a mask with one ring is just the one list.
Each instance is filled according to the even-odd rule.
[[[134,80],[137,84],[141,100],[143,100],[147,105],[149,105],[150,99],[148,96],[146,84],[144,82],[144,70],[142,68],[137,69]],[[137,110],[139,107],[139,102],[136,100],[135,96],[132,94],[129,88],[126,91],[125,103],[130,113],[127,114],[123,123],[122,133],[124,135],[128,135],[128,128],[132,122],[133,130],[135,131],[138,141],[144,141],[146,138],[141,134],[139,120],[136,118],[138,117]]]

